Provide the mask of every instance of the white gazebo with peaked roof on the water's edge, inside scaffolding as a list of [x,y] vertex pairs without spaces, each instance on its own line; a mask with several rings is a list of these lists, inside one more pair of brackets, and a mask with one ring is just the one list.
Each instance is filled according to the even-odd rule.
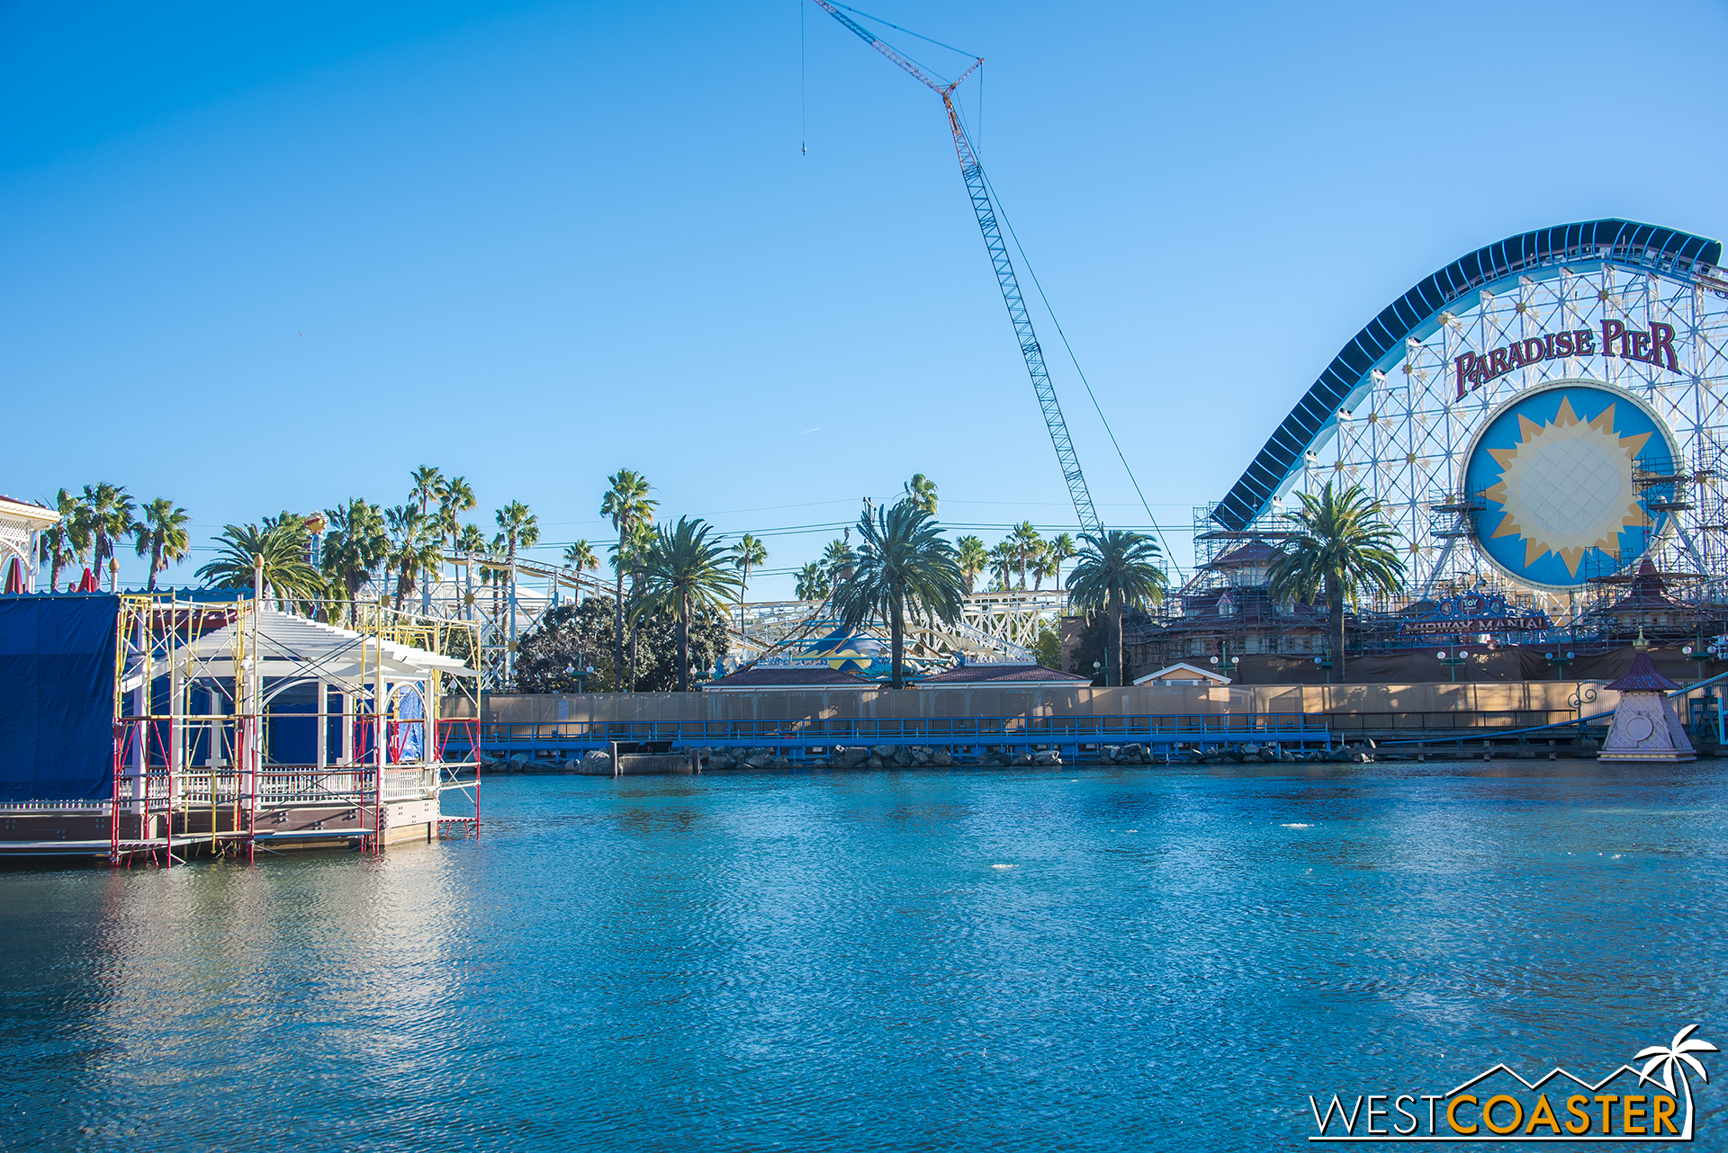
[[[268,604],[207,608],[226,611],[230,623],[175,630],[166,644],[152,630],[143,651],[123,625],[121,690],[140,732],[126,742],[130,787],[121,796],[140,815],[171,810],[171,827],[188,834],[247,834],[256,844],[432,839],[446,787],[441,682],[479,673],[451,656]],[[311,740],[299,728],[299,742],[282,735],[295,721],[311,723]]]

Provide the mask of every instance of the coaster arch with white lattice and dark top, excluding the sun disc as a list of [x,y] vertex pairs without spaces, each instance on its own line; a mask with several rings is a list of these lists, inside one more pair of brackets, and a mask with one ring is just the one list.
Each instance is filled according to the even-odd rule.
[[[1232,535],[1275,532],[1293,490],[1360,482],[1407,539],[1412,590],[1500,582],[1503,566],[1460,547],[1486,540],[1502,514],[1490,504],[1484,520],[1483,494],[1467,490],[1469,450],[1524,390],[1579,380],[1630,394],[1673,430],[1669,449],[1657,438],[1633,464],[1649,532],[1626,539],[1638,542],[1631,552],[1666,549],[1659,564],[1695,571],[1721,595],[1728,276],[1719,261],[1716,240],[1621,219],[1521,233],[1453,261],[1339,350],[1211,520]],[[1555,333],[1567,333],[1562,345]],[[1590,333],[1588,350],[1581,337],[1574,347],[1576,333]],[[1569,556],[1579,580],[1638,558],[1605,547],[1586,559],[1595,568]],[[1541,582],[1524,590],[1553,595]]]

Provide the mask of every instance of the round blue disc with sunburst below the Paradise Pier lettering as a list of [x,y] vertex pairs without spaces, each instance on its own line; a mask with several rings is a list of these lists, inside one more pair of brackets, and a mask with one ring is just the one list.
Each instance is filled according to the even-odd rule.
[[1477,432],[1471,535],[1512,580],[1572,590],[1635,561],[1668,528],[1680,447],[1638,397],[1590,380],[1526,388]]

